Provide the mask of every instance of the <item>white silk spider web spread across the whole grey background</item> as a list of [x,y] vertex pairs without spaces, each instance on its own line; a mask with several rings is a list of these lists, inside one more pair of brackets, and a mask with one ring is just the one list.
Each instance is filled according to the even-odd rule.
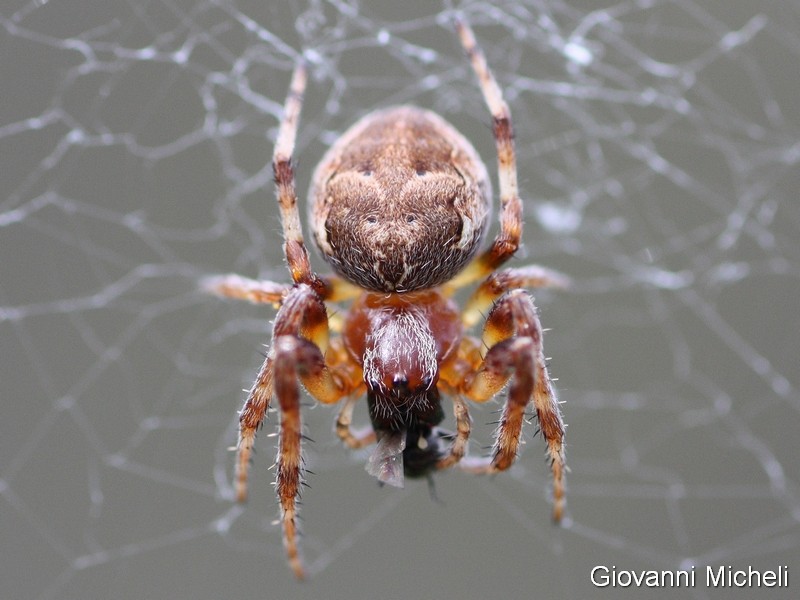
[[[569,518],[549,523],[534,427],[510,474],[442,474],[437,502],[378,488],[334,409],[308,407],[300,588],[274,414],[232,500],[273,313],[196,282],[287,280],[268,162],[301,48],[303,196],[325,147],[393,103],[494,164],[455,8],[516,124],[517,264],[575,280],[537,293]],[[797,3],[9,0],[0,25],[3,597],[576,598],[598,564],[800,568]],[[498,406],[473,411],[471,452]]]

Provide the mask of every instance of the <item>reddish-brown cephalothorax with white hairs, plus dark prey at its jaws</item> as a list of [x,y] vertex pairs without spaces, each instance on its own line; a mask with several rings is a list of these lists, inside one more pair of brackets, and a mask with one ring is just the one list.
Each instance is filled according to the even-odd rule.
[[361,363],[378,447],[368,471],[401,486],[443,454],[433,428],[444,418],[439,365],[460,343],[455,305],[432,293],[364,294],[345,323],[345,347]]

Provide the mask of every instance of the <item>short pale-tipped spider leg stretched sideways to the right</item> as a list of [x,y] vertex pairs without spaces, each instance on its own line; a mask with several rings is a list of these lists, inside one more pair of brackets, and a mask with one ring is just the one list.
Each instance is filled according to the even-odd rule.
[[484,279],[470,296],[464,306],[462,323],[467,329],[477,325],[492,303],[509,290],[542,287],[564,289],[569,284],[570,279],[566,275],[539,265],[496,271]]

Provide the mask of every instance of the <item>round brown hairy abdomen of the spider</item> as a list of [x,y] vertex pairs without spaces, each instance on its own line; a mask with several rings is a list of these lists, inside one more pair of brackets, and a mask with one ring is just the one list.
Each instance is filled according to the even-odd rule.
[[317,248],[356,285],[435,287],[475,255],[491,211],[486,167],[435,113],[368,114],[331,146],[309,193]]

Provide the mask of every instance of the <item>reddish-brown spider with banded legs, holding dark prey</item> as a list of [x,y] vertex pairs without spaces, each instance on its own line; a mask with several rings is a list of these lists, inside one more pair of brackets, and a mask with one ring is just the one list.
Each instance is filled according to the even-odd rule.
[[[402,486],[458,464],[496,473],[514,462],[532,402],[547,443],[553,518],[564,509],[564,424],[542,351],[542,328],[526,287],[563,287],[540,266],[497,269],[522,235],[511,117],[469,26],[455,27],[493,118],[500,187],[500,232],[479,253],[492,192],[477,152],[443,118],[414,106],[370,113],[336,141],[317,166],[309,192],[314,241],[336,275],[310,265],[303,241],[292,153],[306,66],[292,76],[272,167],[291,284],[226,275],[207,280],[217,295],[278,307],[272,344],[239,414],[236,495],[247,497],[255,435],[273,397],[280,406],[276,490],[291,569],[303,578],[297,500],[303,483],[302,386],[317,401],[344,399],[336,433],[350,448],[376,444],[367,470]],[[452,299],[481,282],[463,314]],[[326,303],[349,302],[343,318]],[[486,315],[480,339],[466,335]],[[329,338],[329,330],[339,335]],[[489,457],[466,456],[465,399],[485,402],[510,382]],[[371,428],[352,428],[366,393]],[[453,404],[455,432],[441,397]],[[463,459],[463,460],[462,460]]]

